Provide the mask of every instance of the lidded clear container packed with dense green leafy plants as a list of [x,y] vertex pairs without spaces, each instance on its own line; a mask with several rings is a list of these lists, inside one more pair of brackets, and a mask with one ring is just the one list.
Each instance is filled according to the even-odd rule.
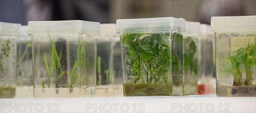
[[116,21],[122,48],[124,96],[181,96],[185,20]]

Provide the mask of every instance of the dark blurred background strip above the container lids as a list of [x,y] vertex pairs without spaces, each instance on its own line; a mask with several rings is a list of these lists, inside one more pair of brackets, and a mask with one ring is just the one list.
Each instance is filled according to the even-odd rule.
[[0,0],[0,21],[181,17],[210,24],[212,16],[256,15],[256,0]]

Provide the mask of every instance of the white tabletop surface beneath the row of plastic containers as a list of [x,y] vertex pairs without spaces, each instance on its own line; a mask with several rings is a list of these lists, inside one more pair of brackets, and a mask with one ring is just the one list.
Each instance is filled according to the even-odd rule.
[[0,113],[256,113],[256,97],[136,96],[0,99]]

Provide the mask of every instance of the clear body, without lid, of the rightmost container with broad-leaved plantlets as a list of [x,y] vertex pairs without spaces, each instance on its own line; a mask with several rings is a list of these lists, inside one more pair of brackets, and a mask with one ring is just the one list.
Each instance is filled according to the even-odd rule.
[[215,32],[218,96],[255,96],[255,32]]

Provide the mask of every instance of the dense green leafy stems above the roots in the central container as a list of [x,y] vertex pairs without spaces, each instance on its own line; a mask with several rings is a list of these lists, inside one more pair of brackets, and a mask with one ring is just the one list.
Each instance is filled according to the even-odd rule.
[[[128,46],[129,59],[134,71],[134,84],[170,82],[170,34],[124,34],[123,46]],[[146,81],[143,78],[146,77]]]

